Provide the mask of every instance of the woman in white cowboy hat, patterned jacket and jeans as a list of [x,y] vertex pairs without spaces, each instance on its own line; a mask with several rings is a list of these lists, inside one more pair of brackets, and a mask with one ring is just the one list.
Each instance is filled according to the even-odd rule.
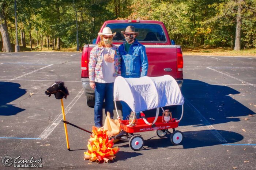
[[102,106],[105,99],[105,114],[110,112],[113,119],[114,80],[121,75],[121,58],[118,48],[112,44],[113,36],[109,27],[103,28],[98,35],[101,41],[91,50],[89,62],[90,86],[95,90],[94,123],[102,127]]

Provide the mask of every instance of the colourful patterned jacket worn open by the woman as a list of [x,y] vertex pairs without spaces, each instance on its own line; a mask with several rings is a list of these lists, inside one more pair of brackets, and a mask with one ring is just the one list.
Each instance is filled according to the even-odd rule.
[[[114,54],[114,77],[120,76],[121,75],[121,58],[119,55],[118,48],[112,44],[113,48],[115,49],[115,54]],[[102,74],[102,60],[103,60],[103,55],[102,51],[104,47],[94,47],[91,50],[90,53],[90,61],[89,61],[89,79],[90,81],[94,81],[95,76],[98,78],[103,78]]]

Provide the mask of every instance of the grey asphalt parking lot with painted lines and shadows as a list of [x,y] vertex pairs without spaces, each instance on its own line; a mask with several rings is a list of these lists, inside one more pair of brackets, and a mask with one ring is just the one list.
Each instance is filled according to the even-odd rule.
[[41,169],[256,169],[255,57],[184,56],[184,117],[176,129],[184,134],[182,145],[144,132],[142,150],[118,142],[117,159],[96,164],[83,160],[90,134],[69,125],[67,151],[61,102],[45,95],[64,81],[66,119],[91,131],[94,109],[80,81],[81,54],[0,53],[0,160],[42,158]]

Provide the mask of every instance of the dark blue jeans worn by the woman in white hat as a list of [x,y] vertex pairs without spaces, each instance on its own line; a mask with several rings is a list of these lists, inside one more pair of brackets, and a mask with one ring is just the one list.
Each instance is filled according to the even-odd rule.
[[94,123],[96,127],[102,127],[102,107],[105,99],[105,114],[110,112],[110,118],[114,116],[114,83],[95,82],[95,105],[94,105]]

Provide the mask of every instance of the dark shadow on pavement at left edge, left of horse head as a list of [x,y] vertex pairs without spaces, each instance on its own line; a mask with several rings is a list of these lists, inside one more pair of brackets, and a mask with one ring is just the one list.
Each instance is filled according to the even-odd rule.
[[20,84],[11,82],[0,82],[0,116],[16,115],[25,110],[10,103],[26,93],[26,89],[20,88]]

